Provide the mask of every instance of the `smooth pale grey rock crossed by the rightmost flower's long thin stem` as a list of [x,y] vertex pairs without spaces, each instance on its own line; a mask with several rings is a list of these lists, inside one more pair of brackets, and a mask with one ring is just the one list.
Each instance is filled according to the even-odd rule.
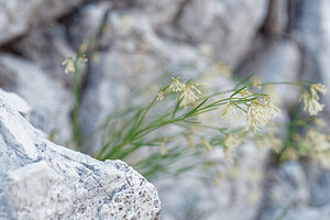
[[[262,43],[261,50],[241,69],[254,73],[262,81],[297,81],[300,76],[301,56],[294,41],[280,40]],[[287,109],[297,103],[300,92],[294,86],[274,86],[273,95],[280,97],[280,105]],[[272,95],[272,94],[271,94]]]

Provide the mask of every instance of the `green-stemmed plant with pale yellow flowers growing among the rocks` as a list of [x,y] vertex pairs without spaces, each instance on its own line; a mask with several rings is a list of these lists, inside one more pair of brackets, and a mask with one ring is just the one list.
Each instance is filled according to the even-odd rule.
[[[73,111],[73,140],[78,150],[81,150],[82,143],[78,125],[79,73],[77,63],[87,62],[84,53],[80,50],[76,59],[67,58],[63,63],[66,65],[66,73],[75,74],[76,105]],[[326,87],[306,81],[256,84],[249,79],[250,77],[232,89],[206,96],[200,89],[201,84],[193,80],[183,82],[180,77],[173,77],[158,89],[145,107],[128,105],[127,108],[111,113],[99,130],[107,135],[99,152],[94,156],[101,161],[124,160],[145,177],[154,178],[164,174],[177,176],[183,172],[219,163],[217,160],[199,158],[200,155],[213,152],[216,148],[222,150],[223,160],[233,163],[237,147],[251,140],[254,140],[257,145],[261,143],[271,145],[278,162],[307,155],[308,151],[299,153],[290,147],[289,142],[282,142],[276,136],[276,132],[263,130],[263,127],[271,123],[280,111],[272,102],[272,97],[264,94],[262,88],[268,85],[297,87],[302,92],[300,101],[304,102],[304,110],[308,110],[310,116],[316,116],[323,109],[323,105],[319,102],[319,94],[324,95]],[[176,95],[176,98],[173,99],[173,95]],[[245,128],[215,127],[200,120],[201,116],[211,112],[218,112],[217,114],[226,120],[244,118]],[[253,132],[250,132],[250,128]],[[213,131],[213,133],[206,132],[206,130]],[[305,145],[307,142],[305,140]],[[147,153],[141,153],[143,148],[147,148]],[[314,158],[324,162],[324,155],[329,153],[321,154],[320,152],[327,150],[321,147],[312,154]],[[140,153],[136,154],[136,152]],[[182,164],[184,160],[188,163]]]

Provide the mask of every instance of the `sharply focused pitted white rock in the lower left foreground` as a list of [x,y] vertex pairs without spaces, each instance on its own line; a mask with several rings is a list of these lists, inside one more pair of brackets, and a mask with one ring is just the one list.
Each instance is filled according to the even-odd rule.
[[158,219],[155,187],[121,161],[45,141],[0,98],[0,219]]

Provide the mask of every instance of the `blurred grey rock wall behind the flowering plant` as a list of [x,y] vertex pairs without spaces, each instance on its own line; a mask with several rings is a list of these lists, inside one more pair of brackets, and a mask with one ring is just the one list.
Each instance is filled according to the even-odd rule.
[[[61,63],[85,38],[92,42],[81,66],[85,139],[134,89],[164,74],[200,78],[210,61],[237,76],[330,87],[328,0],[0,0],[0,88],[23,97],[30,122],[59,144],[70,140],[74,105],[74,76]],[[287,122],[300,95],[275,90]],[[324,102],[327,114],[330,96]],[[328,170],[308,162],[274,167],[251,146],[243,153],[240,179],[156,182],[163,219],[330,219]],[[249,172],[265,179],[251,182]]]

